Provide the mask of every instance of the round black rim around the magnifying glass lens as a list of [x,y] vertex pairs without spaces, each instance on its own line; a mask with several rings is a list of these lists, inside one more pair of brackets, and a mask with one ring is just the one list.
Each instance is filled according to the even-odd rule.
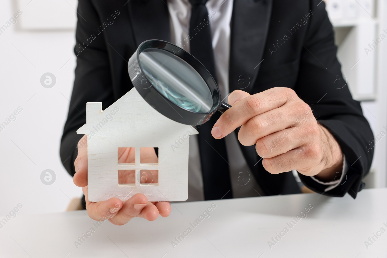
[[[213,105],[210,111],[207,113],[196,113],[184,109],[164,97],[155,87],[152,86],[152,82],[150,82],[144,72],[142,72],[142,67],[139,63],[140,53],[150,48],[159,48],[175,54],[190,64],[199,73],[211,91]],[[200,63],[193,55],[167,41],[151,39],[141,43],[129,59],[128,73],[134,87],[145,99],[145,101],[159,113],[178,123],[185,125],[201,125],[211,118],[212,114],[217,111],[221,104],[219,87],[217,86],[211,73],[209,73],[204,65],[202,65],[202,63]]]

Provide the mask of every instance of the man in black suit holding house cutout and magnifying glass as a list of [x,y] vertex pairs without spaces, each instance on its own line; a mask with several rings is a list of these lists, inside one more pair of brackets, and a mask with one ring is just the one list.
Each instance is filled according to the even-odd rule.
[[190,51],[232,105],[190,137],[188,200],[300,193],[292,170],[325,195],[355,198],[364,188],[373,135],[360,103],[342,87],[324,2],[80,0],[77,12],[77,68],[60,153],[63,161],[71,156],[64,166],[91,218],[122,225],[170,213],[168,202],[141,194],[89,202],[87,140],[76,134],[86,102],[107,107],[133,87],[127,61],[147,39]]

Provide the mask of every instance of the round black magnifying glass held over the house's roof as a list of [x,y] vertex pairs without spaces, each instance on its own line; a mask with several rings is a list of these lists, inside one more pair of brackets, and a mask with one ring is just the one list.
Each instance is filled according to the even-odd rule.
[[231,108],[220,99],[208,70],[178,46],[147,40],[128,62],[130,80],[140,95],[164,116],[186,125],[201,125],[216,111]]

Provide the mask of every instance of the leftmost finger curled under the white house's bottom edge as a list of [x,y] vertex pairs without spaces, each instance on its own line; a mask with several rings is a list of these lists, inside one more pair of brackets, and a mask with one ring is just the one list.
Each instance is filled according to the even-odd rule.
[[118,198],[110,198],[101,202],[90,202],[87,195],[87,186],[82,188],[86,200],[86,210],[89,217],[94,220],[103,221],[113,218],[122,208],[123,203]]

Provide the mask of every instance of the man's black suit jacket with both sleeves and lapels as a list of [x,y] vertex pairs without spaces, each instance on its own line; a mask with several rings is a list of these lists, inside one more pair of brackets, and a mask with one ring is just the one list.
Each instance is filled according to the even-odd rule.
[[[342,185],[325,193],[354,198],[364,187],[373,150],[373,134],[360,103],[354,101],[336,58],[334,34],[321,0],[234,0],[229,62],[230,92],[250,94],[272,87],[294,89],[317,120],[334,135],[348,162]],[[60,147],[64,166],[74,175],[76,130],[86,123],[86,102],[110,106],[132,87],[127,61],[147,39],[170,39],[165,0],[79,0],[76,31],[77,68]],[[339,83],[340,82],[340,83]],[[270,174],[255,146],[242,152],[266,195],[300,192],[291,173]],[[325,186],[300,174],[310,189]]]

